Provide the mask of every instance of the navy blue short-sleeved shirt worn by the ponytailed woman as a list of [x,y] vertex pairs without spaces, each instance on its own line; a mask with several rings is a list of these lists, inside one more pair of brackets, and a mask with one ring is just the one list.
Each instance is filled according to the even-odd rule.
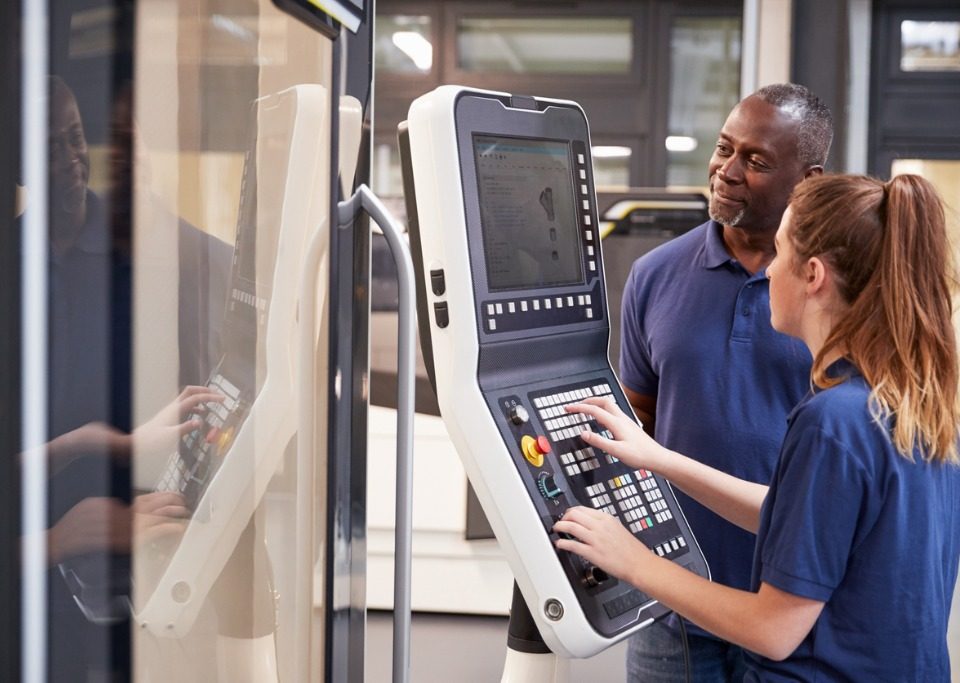
[[790,415],[752,585],[826,604],[785,661],[748,653],[745,680],[946,683],[960,468],[898,454],[857,369],[839,361],[830,372],[849,379]]

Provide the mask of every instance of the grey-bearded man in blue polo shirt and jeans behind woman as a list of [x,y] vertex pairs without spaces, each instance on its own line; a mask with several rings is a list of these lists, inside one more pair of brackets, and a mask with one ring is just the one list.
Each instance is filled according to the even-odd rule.
[[[620,377],[664,446],[768,483],[786,416],[809,386],[803,344],[770,326],[766,267],[790,193],[823,172],[829,110],[806,88],[767,86],[740,102],[709,165],[711,220],[651,251],[624,291]],[[678,493],[713,578],[746,589],[755,538]],[[676,617],[630,643],[631,681],[685,677]],[[740,649],[688,626],[692,680],[740,681]]]

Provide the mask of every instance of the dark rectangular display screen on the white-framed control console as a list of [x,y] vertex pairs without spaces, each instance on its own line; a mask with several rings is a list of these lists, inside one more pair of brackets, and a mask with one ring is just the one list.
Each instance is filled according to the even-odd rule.
[[490,290],[583,280],[565,142],[473,136]]

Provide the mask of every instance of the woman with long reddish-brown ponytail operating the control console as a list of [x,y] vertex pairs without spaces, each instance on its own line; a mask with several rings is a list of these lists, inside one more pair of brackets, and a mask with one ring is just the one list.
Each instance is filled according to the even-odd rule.
[[814,358],[770,486],[668,451],[612,401],[572,412],[591,446],[654,470],[757,534],[751,591],[657,557],[597,510],[567,511],[582,555],[750,651],[746,680],[949,681],[960,552],[957,351],[949,246],[929,183],[801,183],[767,269],[773,326]]

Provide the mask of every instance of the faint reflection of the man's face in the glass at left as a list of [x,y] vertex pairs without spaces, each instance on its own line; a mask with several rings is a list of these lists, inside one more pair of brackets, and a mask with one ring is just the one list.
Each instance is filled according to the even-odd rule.
[[50,112],[50,180],[54,207],[76,212],[86,202],[90,155],[76,100],[55,90]]

